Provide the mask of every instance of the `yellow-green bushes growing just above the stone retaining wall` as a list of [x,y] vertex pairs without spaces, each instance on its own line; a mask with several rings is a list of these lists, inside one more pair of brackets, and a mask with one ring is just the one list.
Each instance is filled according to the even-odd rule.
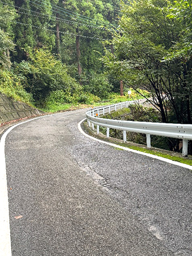
[[0,92],[16,101],[32,105],[32,95],[24,90],[23,84],[23,77],[19,77],[11,71],[0,70]]

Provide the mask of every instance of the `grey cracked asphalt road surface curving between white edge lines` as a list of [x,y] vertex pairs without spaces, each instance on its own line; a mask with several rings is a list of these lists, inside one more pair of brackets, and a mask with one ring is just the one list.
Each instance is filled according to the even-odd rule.
[[12,256],[192,255],[192,172],[93,141],[83,118],[45,116],[8,134]]

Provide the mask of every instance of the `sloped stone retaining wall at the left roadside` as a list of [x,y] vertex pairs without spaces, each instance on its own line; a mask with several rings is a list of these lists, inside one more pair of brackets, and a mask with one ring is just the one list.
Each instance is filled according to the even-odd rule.
[[0,124],[11,120],[26,118],[28,116],[40,115],[43,112],[25,103],[14,101],[0,93]]

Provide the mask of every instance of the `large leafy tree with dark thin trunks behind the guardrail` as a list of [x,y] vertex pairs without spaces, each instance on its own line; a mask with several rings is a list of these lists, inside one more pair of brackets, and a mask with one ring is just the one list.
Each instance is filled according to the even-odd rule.
[[124,6],[122,33],[110,42],[115,54],[106,49],[103,62],[126,86],[150,92],[163,122],[173,120],[172,111],[174,122],[192,123],[192,55],[189,51],[179,54],[180,50],[184,53],[185,28],[181,20],[170,18],[169,4],[167,0],[139,0]]

